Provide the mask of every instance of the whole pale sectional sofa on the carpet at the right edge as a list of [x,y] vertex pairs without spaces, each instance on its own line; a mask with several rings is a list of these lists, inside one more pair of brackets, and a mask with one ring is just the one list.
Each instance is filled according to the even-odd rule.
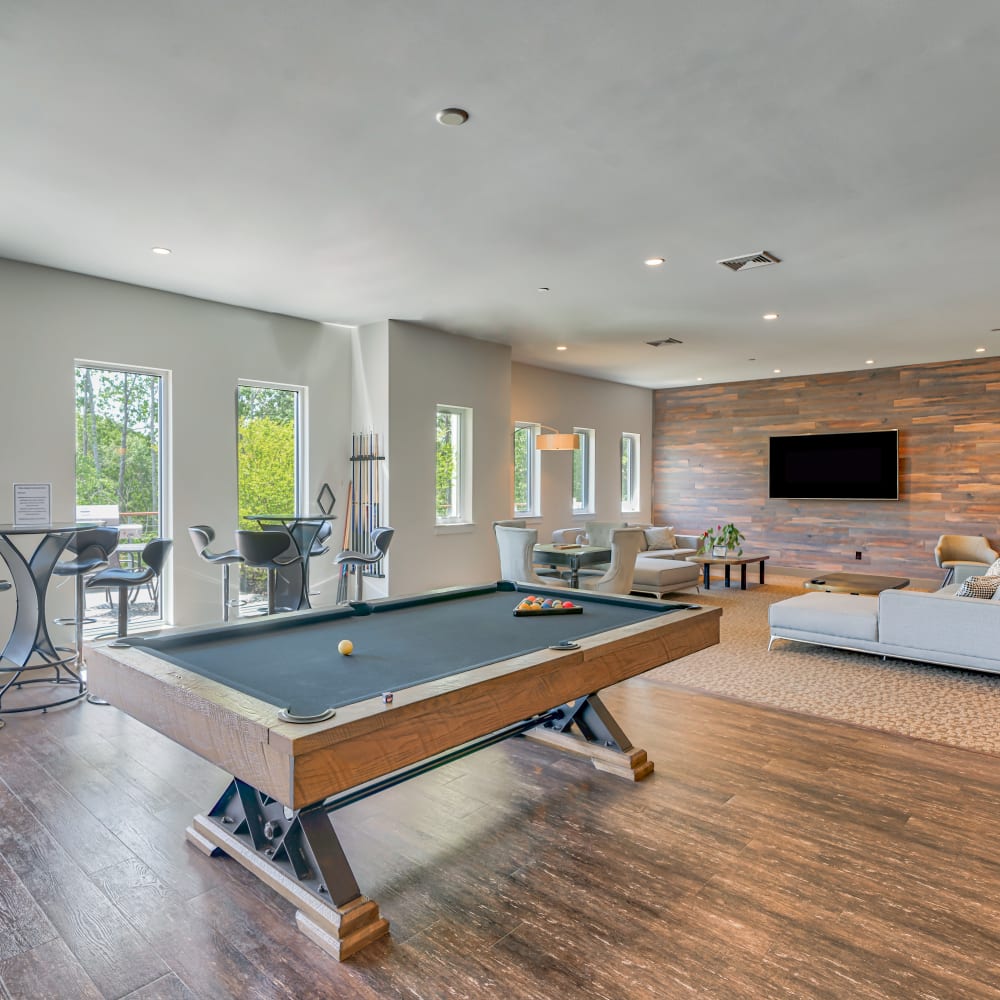
[[768,611],[768,649],[776,639],[793,639],[1000,673],[1000,598],[958,597],[959,586],[934,593],[884,590],[874,597],[826,592],[790,597]]

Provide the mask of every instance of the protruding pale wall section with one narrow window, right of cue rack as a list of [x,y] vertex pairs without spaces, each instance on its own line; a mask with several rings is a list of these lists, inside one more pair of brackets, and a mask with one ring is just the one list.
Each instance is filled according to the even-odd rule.
[[[394,594],[496,580],[493,521],[506,517],[510,348],[389,321],[389,504]],[[473,411],[473,523],[435,526],[435,409]]]

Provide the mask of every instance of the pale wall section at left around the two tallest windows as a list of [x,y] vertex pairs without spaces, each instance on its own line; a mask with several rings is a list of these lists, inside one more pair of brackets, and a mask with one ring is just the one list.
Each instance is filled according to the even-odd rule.
[[[11,484],[19,481],[52,483],[53,518],[74,516],[77,360],[170,373],[173,518],[163,530],[175,543],[176,622],[221,615],[220,571],[197,557],[187,526],[213,525],[219,543],[232,545],[238,379],[308,387],[309,506],[323,482],[338,501],[346,493],[348,330],[3,260],[0,330],[0,522],[12,520]],[[336,513],[344,516],[339,502]],[[72,592],[63,583],[59,606]],[[0,616],[9,624],[13,600],[5,596]]]

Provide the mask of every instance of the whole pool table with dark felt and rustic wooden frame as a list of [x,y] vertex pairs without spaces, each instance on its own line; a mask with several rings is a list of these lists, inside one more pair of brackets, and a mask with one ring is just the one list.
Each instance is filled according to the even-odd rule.
[[[599,692],[719,641],[718,608],[501,581],[88,647],[90,690],[233,776],[188,839],[298,907],[338,959],[388,931],[330,820],[358,798],[524,734],[639,780]],[[354,651],[341,655],[349,639]]]

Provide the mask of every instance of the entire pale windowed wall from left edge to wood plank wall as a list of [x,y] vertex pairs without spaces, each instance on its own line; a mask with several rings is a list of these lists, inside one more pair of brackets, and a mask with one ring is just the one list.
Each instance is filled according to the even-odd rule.
[[[380,433],[391,593],[495,580],[492,522],[512,506],[515,420],[597,431],[597,513],[620,517],[619,439],[642,436],[642,510],[649,520],[652,393],[527,365],[505,345],[389,320],[357,330],[240,309],[0,260],[0,522],[13,517],[14,482],[50,482],[53,516],[74,514],[74,379],[78,360],[169,373],[172,521],[171,620],[217,621],[219,571],[200,560],[189,524],[213,525],[219,544],[236,526],[235,387],[241,378],[308,387],[308,505],[329,482],[337,495],[334,551],[343,533],[352,430]],[[434,428],[439,403],[473,410],[473,523],[435,526]],[[169,456],[168,456],[169,458]],[[574,523],[571,457],[542,458],[539,535]],[[576,518],[581,523],[587,518]],[[0,567],[2,575],[2,567]],[[318,605],[336,596],[332,554],[312,566]],[[71,605],[67,581],[54,613]],[[54,585],[55,586],[55,585]],[[378,582],[366,584],[369,593]],[[0,635],[12,617],[0,597]],[[170,610],[170,609],[168,609]]]

